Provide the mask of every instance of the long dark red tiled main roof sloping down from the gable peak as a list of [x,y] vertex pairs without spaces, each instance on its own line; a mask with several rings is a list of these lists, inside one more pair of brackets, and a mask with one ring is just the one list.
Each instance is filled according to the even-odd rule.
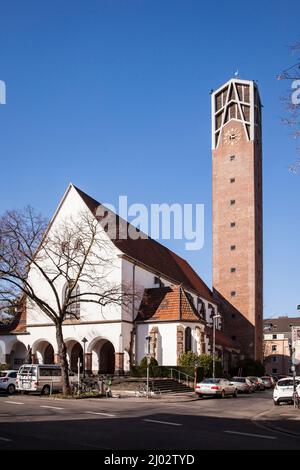
[[[74,188],[92,213],[95,214],[97,208],[101,206],[101,204],[75,186]],[[128,222],[117,216],[118,228],[122,223],[126,224],[127,230],[130,227],[132,228]],[[116,239],[112,239],[112,241],[125,255],[215,303],[212,291],[205,282],[202,281],[187,261],[180,258],[180,256],[176,255],[173,251],[169,250],[157,241],[150,237],[138,238],[136,240],[133,240],[130,237],[121,239],[118,237],[118,233]]]

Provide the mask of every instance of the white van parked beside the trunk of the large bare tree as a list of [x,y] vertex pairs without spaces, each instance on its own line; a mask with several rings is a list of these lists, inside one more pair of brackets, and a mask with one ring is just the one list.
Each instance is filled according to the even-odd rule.
[[[69,372],[70,382],[76,380]],[[61,367],[55,364],[24,364],[17,373],[16,390],[19,392],[39,392],[50,395],[62,392]]]

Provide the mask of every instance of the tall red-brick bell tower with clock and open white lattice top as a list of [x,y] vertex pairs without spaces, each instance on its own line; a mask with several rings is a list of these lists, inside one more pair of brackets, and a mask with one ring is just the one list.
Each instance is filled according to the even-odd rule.
[[213,287],[225,333],[262,360],[261,102],[253,81],[231,79],[212,93],[212,158]]

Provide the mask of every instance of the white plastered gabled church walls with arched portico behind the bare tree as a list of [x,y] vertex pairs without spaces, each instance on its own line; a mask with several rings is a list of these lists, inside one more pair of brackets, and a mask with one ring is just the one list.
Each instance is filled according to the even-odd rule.
[[[72,184],[68,187],[54,217],[49,225],[49,231],[56,230],[60,224],[72,217],[80,217],[87,211],[87,205],[77,188]],[[205,334],[205,321],[153,321],[138,322],[136,318],[145,289],[159,288],[158,279],[165,287],[171,287],[176,279],[170,279],[163,273],[144,265],[122,252],[103,232],[109,245],[113,268],[107,271],[108,279],[113,283],[131,286],[133,302],[130,306],[110,305],[101,307],[93,303],[80,305],[80,320],[66,320],[63,325],[63,335],[67,345],[70,367],[76,368],[78,357],[82,362],[83,347],[85,348],[85,368],[93,372],[125,373],[130,369],[131,361],[139,364],[145,356],[145,338],[156,332],[155,356],[160,365],[176,366],[178,359],[178,331],[191,329],[191,349],[194,352],[210,352],[208,337]],[[31,282],[39,295],[54,304],[53,293],[44,279],[32,269]],[[179,285],[180,282],[177,282]],[[57,285],[57,290],[63,295],[65,286]],[[83,288],[83,286],[80,286]],[[211,325],[211,308],[217,313],[217,305],[197,294],[192,289],[184,287],[190,295],[191,302],[197,306],[199,299],[203,303],[208,324]],[[9,363],[10,367],[18,368],[28,357],[30,350],[34,362],[57,361],[57,344],[55,327],[50,319],[37,307],[27,305],[26,328],[24,331],[16,328],[5,334],[0,330],[0,362]],[[200,332],[202,333],[200,338]],[[184,333],[183,333],[184,336]],[[82,340],[86,338],[85,346]],[[184,341],[184,340],[183,340]],[[201,343],[201,344],[200,344]],[[183,344],[184,350],[184,344]]]

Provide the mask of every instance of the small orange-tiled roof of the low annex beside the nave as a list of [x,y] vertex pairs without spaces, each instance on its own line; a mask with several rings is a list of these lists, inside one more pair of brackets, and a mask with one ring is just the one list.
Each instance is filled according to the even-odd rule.
[[145,289],[136,321],[204,322],[181,286]]

